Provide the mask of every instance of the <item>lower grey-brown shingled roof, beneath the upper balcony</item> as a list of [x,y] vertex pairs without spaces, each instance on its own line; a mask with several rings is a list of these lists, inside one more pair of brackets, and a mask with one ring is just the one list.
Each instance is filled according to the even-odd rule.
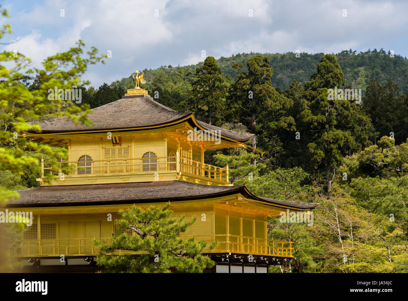
[[313,209],[318,203],[259,198],[245,186],[209,186],[184,181],[136,182],[67,186],[40,186],[18,190],[20,198],[7,207],[55,207],[96,204],[167,202],[212,198],[241,193],[244,197],[275,207]]

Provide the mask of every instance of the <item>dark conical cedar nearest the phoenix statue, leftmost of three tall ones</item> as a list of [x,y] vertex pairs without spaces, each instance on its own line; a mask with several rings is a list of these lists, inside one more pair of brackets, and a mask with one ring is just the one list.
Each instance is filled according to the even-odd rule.
[[220,125],[225,110],[228,85],[215,58],[208,56],[204,65],[195,71],[197,80],[193,83],[191,105],[209,124]]

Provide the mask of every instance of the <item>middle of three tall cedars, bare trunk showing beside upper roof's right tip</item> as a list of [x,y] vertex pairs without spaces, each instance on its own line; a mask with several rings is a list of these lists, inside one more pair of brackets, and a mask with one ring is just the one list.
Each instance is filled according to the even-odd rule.
[[[279,94],[271,86],[273,69],[268,56],[257,55],[247,61],[248,73],[241,72],[232,87],[233,105],[242,116],[249,130],[255,133],[252,147],[257,147],[257,140],[268,150],[268,133],[277,128],[294,130],[295,121],[287,115],[287,110],[293,105],[291,99]],[[234,64],[235,68],[243,67]],[[241,108],[242,110],[239,110]],[[261,121],[258,123],[258,121]],[[252,164],[256,165],[255,157]]]

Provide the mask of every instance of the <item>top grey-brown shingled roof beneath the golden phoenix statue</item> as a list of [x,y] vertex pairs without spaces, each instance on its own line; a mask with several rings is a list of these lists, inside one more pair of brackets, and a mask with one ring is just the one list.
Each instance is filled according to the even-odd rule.
[[89,119],[95,123],[92,126],[84,124],[75,125],[68,117],[30,122],[30,124],[39,124],[42,128],[42,133],[67,133],[149,128],[164,126],[187,118],[192,126],[198,124],[205,130],[219,130],[222,136],[233,140],[246,141],[253,137],[253,134],[238,133],[195,120],[192,113],[176,112],[154,101],[152,97],[147,95],[124,96],[122,99],[94,108],[91,111],[92,114],[89,115]]

